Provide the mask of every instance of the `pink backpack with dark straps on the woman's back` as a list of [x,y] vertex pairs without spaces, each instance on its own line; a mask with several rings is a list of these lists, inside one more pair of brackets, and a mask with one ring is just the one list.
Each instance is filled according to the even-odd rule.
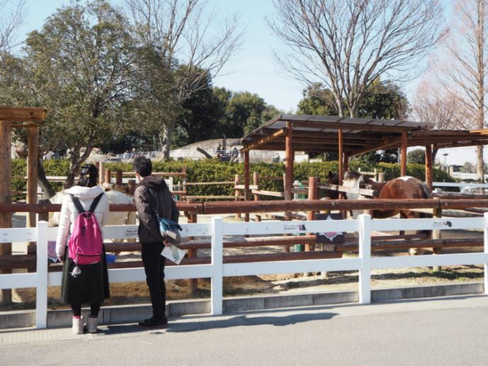
[[79,212],[74,222],[74,229],[69,237],[69,258],[78,264],[95,264],[98,263],[103,254],[102,230],[98,225],[97,218],[93,213],[98,202],[103,196],[100,193],[91,203],[90,209],[85,211],[79,199],[70,194],[71,201]]

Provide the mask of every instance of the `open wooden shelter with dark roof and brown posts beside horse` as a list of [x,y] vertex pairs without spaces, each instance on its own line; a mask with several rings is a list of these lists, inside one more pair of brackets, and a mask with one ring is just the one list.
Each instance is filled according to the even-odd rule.
[[488,143],[488,130],[429,130],[420,122],[338,116],[280,114],[241,139],[244,153],[245,194],[249,188],[249,151],[284,150],[284,196],[291,199],[294,152],[338,153],[339,184],[349,158],[373,150],[401,149],[401,175],[407,174],[407,147],[424,146],[426,183],[432,188],[432,149],[478,146]]

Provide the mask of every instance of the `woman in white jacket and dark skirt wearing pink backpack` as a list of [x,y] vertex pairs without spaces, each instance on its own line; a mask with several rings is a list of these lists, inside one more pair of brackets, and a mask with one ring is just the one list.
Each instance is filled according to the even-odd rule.
[[[96,333],[98,312],[110,297],[107,261],[100,228],[108,221],[109,203],[103,188],[97,185],[98,169],[81,167],[80,180],[66,189],[56,240],[56,254],[63,262],[61,295],[73,312],[74,334]],[[90,304],[86,321],[81,305]]]

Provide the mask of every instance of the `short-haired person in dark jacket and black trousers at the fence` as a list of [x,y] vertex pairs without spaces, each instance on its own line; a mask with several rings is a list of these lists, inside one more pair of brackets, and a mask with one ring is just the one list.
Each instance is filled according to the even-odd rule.
[[149,287],[153,316],[139,323],[143,328],[166,328],[165,316],[166,287],[164,283],[165,257],[161,252],[170,245],[161,235],[158,216],[178,223],[180,213],[164,179],[154,177],[149,158],[137,156],[134,172],[139,184],[134,192],[134,201],[139,213],[139,242],[142,247],[142,262]]

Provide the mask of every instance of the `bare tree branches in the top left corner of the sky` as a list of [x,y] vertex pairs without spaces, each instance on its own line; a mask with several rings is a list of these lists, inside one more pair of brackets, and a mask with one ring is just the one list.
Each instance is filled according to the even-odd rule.
[[25,0],[14,2],[15,6],[9,8],[8,0],[0,0],[0,52],[6,52],[16,45],[13,36],[25,18]]

